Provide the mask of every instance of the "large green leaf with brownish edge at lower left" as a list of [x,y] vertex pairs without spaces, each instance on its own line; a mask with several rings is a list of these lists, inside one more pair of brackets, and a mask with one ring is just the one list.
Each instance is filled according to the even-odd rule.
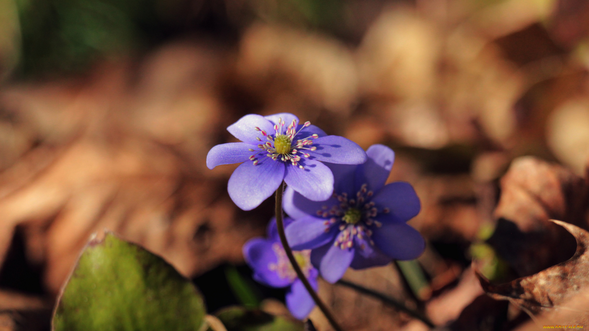
[[53,317],[54,331],[197,331],[206,308],[161,257],[113,234],[82,252]]

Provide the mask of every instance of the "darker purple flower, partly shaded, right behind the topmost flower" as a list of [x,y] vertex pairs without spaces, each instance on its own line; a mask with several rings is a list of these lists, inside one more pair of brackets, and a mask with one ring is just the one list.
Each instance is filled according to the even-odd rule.
[[366,154],[365,164],[329,166],[335,177],[329,200],[311,201],[290,187],[284,193],[284,211],[295,219],[286,228],[290,246],[312,249],[312,263],[330,283],[348,267],[411,260],[425,248],[421,234],[405,223],[421,208],[413,187],[401,181],[385,185],[395,153],[372,145]]

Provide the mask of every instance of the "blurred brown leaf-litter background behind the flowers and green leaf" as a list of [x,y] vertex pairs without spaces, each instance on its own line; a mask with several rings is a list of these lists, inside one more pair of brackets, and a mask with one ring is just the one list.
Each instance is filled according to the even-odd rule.
[[[249,113],[395,150],[389,180],[422,200],[426,283],[412,292],[394,264],[346,279],[436,325],[513,329],[527,315],[481,296],[471,258],[491,279],[527,276],[574,251],[542,222],[587,227],[585,1],[0,0],[0,22],[0,330],[46,328],[105,229],[195,279],[211,309],[236,300],[214,279],[243,264],[273,201],[239,210],[234,166],[205,160]],[[346,330],[427,329],[341,286],[321,292]]]

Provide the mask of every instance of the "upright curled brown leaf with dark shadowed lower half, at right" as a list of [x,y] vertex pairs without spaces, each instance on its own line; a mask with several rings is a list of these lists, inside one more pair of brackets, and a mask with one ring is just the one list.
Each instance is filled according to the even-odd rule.
[[540,272],[573,256],[573,238],[548,221],[586,227],[587,184],[567,168],[534,157],[515,159],[501,178],[501,198],[488,240],[518,276]]

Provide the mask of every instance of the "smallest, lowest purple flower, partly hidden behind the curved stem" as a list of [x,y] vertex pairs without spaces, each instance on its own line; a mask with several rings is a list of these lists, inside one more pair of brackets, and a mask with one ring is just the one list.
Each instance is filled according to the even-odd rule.
[[[289,224],[292,219],[285,218],[284,224]],[[287,287],[286,306],[290,313],[297,319],[305,319],[315,307],[313,298],[305,289],[303,283],[296,276],[296,272],[290,265],[289,259],[284,253],[282,244],[276,229],[276,219],[272,219],[268,225],[268,238],[254,238],[243,245],[243,256],[247,264],[254,270],[254,279],[257,282],[272,287]],[[294,257],[299,263],[313,289],[317,290],[317,269],[310,262],[310,250],[293,251]]]

